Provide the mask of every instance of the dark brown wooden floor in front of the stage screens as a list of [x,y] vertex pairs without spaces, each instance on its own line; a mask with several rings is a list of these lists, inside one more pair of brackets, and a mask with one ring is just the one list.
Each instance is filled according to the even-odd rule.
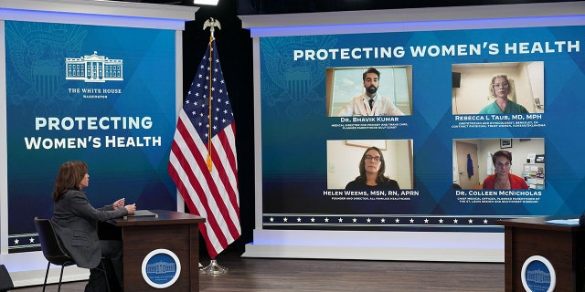
[[[208,258],[201,264],[207,266]],[[504,264],[218,256],[229,274],[199,277],[199,291],[211,292],[491,292],[504,291]],[[83,291],[85,282],[67,283],[62,292]],[[42,287],[12,291],[39,292]],[[57,291],[51,285],[46,291]]]

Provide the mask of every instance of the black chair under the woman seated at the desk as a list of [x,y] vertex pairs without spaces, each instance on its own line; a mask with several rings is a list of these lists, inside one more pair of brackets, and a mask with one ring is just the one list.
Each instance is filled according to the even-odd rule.
[[[61,245],[53,224],[48,219],[39,219],[35,217],[35,226],[37,227],[38,239],[40,240],[40,247],[43,250],[43,255],[48,260],[47,272],[45,273],[45,282],[43,283],[43,292],[47,286],[48,269],[51,264],[61,266],[61,274],[58,277],[58,290],[61,290],[61,281],[63,280],[63,269],[65,266],[75,265],[73,258],[67,253],[65,248]],[[104,273],[106,279],[106,287],[110,291],[110,285],[108,283],[108,275],[106,273],[105,265],[103,260],[100,262],[100,270]]]

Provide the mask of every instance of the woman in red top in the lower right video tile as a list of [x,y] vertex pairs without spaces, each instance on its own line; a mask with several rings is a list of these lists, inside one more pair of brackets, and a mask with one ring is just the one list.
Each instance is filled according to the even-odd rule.
[[492,155],[495,174],[484,180],[484,190],[527,190],[528,185],[523,178],[510,173],[512,166],[512,153],[509,151],[496,151]]

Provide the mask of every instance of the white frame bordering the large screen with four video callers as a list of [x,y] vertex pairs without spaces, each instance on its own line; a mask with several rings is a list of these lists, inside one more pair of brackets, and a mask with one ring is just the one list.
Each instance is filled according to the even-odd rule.
[[[432,10],[432,12],[431,12]],[[262,214],[261,37],[388,33],[585,24],[578,3],[481,5],[239,16],[254,54],[255,230],[242,256],[504,262],[504,233],[267,230]],[[497,16],[497,18],[495,18]],[[380,19],[384,21],[381,22]],[[430,244],[432,243],[432,244]],[[367,247],[367,248],[365,248]],[[374,247],[374,248],[372,248]]]

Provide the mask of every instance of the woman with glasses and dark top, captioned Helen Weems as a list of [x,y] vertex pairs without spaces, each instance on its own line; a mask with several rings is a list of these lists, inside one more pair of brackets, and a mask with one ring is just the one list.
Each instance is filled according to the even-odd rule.
[[399,190],[399,183],[385,176],[385,171],[386,162],[384,162],[382,151],[378,147],[372,146],[364,152],[359,161],[359,176],[356,177],[356,180],[347,183],[346,190]]

